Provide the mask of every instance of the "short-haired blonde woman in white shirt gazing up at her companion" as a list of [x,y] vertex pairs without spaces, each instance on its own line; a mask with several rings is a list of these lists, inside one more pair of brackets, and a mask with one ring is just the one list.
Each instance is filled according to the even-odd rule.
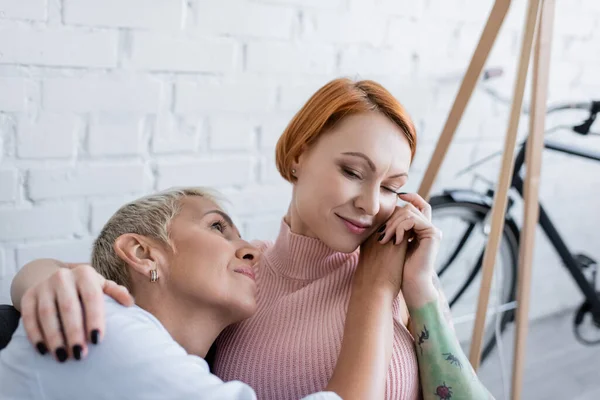
[[[380,267],[357,270],[360,279],[353,285],[338,366],[325,391],[307,400],[371,399],[382,393],[391,340],[384,317],[373,311],[389,308],[398,294],[400,273],[386,265],[398,263],[400,256],[397,247],[383,246],[364,264]],[[23,297],[23,320],[0,352],[0,398],[256,399],[248,385],[212,375],[204,357],[225,327],[256,311],[259,262],[258,249],[241,239],[204,190],[169,190],[123,206],[94,243],[97,272],[85,265],[59,268],[43,280],[36,271],[40,282]],[[103,289],[125,305],[132,301],[129,291],[135,306],[103,298]],[[67,321],[78,295],[85,304],[101,307],[86,308],[85,317],[78,311]],[[62,325],[68,327],[68,343],[58,345],[63,339],[55,296]],[[35,310],[42,316],[39,322]],[[102,335],[90,332],[89,339],[101,340],[102,346],[87,346],[76,337],[84,325],[106,326]],[[42,337],[59,361],[69,352],[79,362],[57,364],[46,354]]]

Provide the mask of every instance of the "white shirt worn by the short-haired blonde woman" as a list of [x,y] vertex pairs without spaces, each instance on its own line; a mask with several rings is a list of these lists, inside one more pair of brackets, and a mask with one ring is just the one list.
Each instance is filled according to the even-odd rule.
[[[152,314],[105,296],[106,335],[83,360],[40,355],[22,322],[0,351],[2,400],[255,400],[252,388],[223,382],[203,358],[189,355]],[[340,400],[319,392],[304,400]]]

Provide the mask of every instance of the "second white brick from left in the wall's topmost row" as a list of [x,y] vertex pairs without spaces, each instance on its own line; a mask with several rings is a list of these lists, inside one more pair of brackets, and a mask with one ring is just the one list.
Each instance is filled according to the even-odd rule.
[[65,0],[64,22],[73,25],[147,29],[181,28],[183,1]]

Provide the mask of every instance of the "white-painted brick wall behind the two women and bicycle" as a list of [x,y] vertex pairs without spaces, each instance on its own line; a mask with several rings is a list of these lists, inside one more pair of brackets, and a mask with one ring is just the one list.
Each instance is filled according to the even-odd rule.
[[[220,188],[246,237],[272,239],[291,195],[275,143],[339,75],[380,81],[413,115],[415,190],[492,4],[0,0],[0,302],[24,263],[88,259],[120,205],[172,185]],[[600,98],[599,4],[557,2],[552,101]],[[525,2],[511,7],[490,61],[506,71],[494,84],[505,95]],[[436,188],[471,184],[455,172],[501,149],[507,115],[476,91]],[[480,171],[496,179],[497,165]],[[600,260],[600,168],[547,157],[544,174],[542,197],[569,244]],[[538,243],[534,316],[579,301],[546,239]]]

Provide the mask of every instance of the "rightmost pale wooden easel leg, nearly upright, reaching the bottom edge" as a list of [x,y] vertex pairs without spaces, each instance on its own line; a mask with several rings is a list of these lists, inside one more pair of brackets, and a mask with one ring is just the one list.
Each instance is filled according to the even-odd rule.
[[539,184],[544,148],[544,123],[548,78],[550,71],[550,50],[552,26],[554,23],[554,0],[542,0],[540,19],[533,54],[533,79],[531,86],[531,116],[529,138],[526,149],[526,175],[523,197],[525,200],[521,248],[519,250],[519,276],[517,280],[517,319],[516,340],[513,359],[512,400],[521,398],[523,386],[523,364],[529,317],[531,291],[531,268],[535,231],[539,218]]

